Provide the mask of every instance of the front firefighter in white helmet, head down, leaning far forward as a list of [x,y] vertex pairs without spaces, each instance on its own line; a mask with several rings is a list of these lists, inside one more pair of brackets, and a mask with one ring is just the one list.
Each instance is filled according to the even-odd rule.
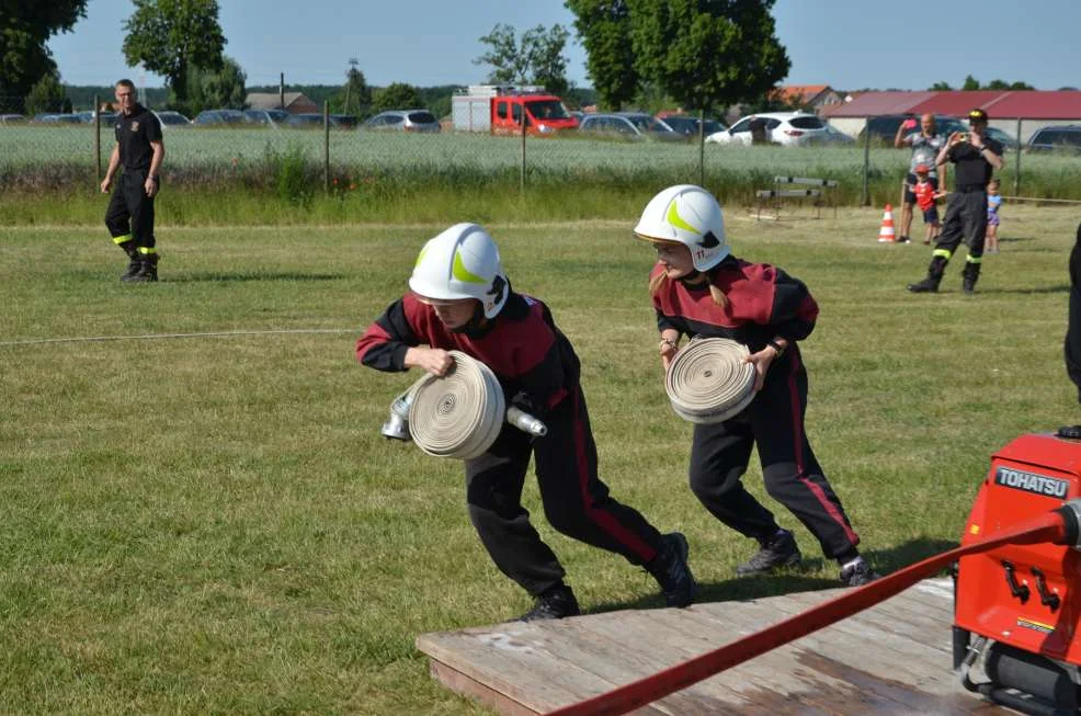
[[546,436],[531,437],[504,424],[487,453],[465,461],[466,501],[481,543],[500,571],[535,599],[522,618],[579,613],[562,566],[522,507],[531,456],[553,527],[644,566],[668,605],[690,604],[695,583],[686,538],[662,535],[608,496],[596,474],[578,356],[548,307],[511,289],[491,237],[476,224],[446,229],[424,245],[409,288],[356,341],[361,363],[443,375],[453,363],[447,351],[462,351],[492,370],[508,405],[548,427]]

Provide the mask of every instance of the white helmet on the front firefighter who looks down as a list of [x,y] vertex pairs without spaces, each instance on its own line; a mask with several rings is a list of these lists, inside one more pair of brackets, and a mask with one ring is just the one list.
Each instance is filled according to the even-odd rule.
[[499,249],[476,224],[455,224],[429,240],[417,257],[409,287],[433,300],[476,298],[485,318],[499,314],[510,294]]

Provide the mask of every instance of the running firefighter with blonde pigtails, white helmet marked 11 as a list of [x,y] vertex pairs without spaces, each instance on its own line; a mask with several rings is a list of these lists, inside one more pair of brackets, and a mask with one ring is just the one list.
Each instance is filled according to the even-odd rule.
[[764,263],[731,254],[720,205],[699,186],[665,189],[646,205],[635,235],[657,249],[649,288],[665,371],[683,337],[727,338],[750,350],[756,374],[753,401],[737,417],[695,424],[691,489],[718,520],[759,542],[737,573],[769,572],[799,562],[783,530],[742,485],[758,446],[766,491],[818,537],[841,567],[841,581],[866,583],[877,575],[860,556],[860,537],[815,458],[804,414],[807,371],[797,341],[815,328],[818,305],[803,282]]

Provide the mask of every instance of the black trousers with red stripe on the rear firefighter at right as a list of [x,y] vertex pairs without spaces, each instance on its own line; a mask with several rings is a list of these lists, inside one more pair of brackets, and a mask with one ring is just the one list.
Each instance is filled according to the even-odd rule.
[[[781,362],[783,361],[783,362]],[[852,555],[860,537],[815,458],[804,414],[807,372],[797,351],[775,362],[765,385],[739,416],[696,424],[691,445],[691,489],[718,520],[740,534],[765,541],[780,529],[773,513],[747,491],[743,474],[758,445],[766,492],[813,534],[822,553]]]

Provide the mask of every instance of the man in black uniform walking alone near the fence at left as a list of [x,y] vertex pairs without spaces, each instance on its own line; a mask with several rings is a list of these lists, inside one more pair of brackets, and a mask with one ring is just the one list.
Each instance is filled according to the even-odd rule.
[[158,171],[166,156],[161,139],[161,122],[135,101],[132,80],[116,83],[116,144],[109,158],[109,169],[101,182],[107,194],[117,168],[124,173],[116,184],[105,226],[113,242],[128,255],[127,271],[121,281],[147,282],[158,280],[158,251],[153,239],[153,197],[158,194]]

